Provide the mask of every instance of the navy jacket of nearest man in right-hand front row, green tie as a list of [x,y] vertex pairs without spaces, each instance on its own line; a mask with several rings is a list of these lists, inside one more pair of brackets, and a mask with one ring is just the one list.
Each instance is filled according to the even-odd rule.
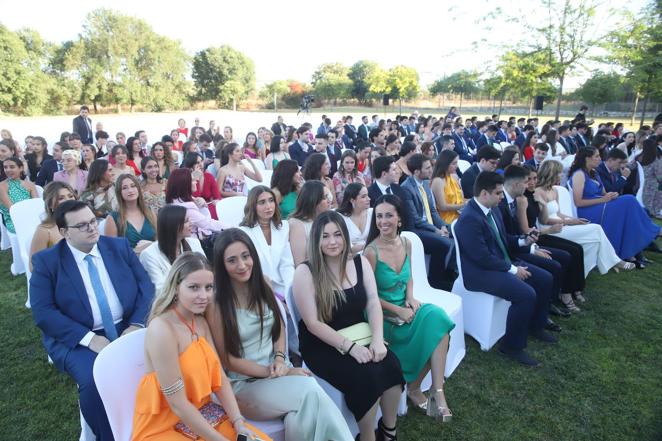
[[[525,248],[519,246],[517,236],[506,233],[501,213],[497,207],[492,209],[492,216],[510,260],[514,262],[514,252]],[[465,283],[466,280],[484,278],[484,271],[507,272],[510,269],[492,231],[487,216],[483,214],[476,201],[471,199],[455,224],[455,236],[462,250],[462,278]]]

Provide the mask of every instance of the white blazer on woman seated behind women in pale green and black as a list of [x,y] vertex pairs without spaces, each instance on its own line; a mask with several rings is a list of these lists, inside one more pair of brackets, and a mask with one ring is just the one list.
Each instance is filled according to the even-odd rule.
[[[294,259],[290,248],[290,226],[286,220],[280,228],[271,223],[271,246],[259,225],[241,226],[253,241],[265,276],[271,279],[274,291],[285,296],[294,280]],[[144,251],[143,251],[144,252]]]

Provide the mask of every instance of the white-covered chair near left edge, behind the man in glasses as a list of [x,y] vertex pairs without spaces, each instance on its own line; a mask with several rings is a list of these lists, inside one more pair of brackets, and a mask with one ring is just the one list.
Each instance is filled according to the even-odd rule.
[[14,220],[14,228],[16,229],[16,243],[17,250],[23,267],[25,268],[25,278],[27,279],[28,299],[25,302],[26,307],[30,307],[30,246],[32,245],[32,238],[39,223],[41,223],[42,216],[45,214],[44,201],[42,199],[26,199],[15,203],[9,209],[11,218]]

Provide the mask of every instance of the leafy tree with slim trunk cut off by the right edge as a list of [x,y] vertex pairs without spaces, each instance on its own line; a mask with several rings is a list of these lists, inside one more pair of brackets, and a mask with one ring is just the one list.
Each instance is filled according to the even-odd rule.
[[610,52],[607,61],[625,69],[635,91],[633,124],[639,97],[645,97],[643,125],[648,100],[662,98],[662,2],[652,0],[639,17],[630,14],[626,26],[610,33],[605,46]]

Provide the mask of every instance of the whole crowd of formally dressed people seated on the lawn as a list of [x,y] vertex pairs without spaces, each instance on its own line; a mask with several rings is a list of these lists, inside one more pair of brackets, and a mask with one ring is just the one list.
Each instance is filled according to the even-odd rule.
[[[643,251],[659,251],[651,217],[662,209],[662,123],[593,134],[581,118],[539,127],[496,115],[375,115],[358,128],[350,116],[327,119],[313,135],[311,124],[280,118],[245,142],[229,126],[183,120],[153,145],[143,130],[118,133],[119,143],[102,130],[65,133],[50,149],[39,136],[25,147],[11,135],[0,141],[10,234],[9,208],[45,187],[30,250],[32,313],[99,439],[112,434],[91,366],[111,341],[145,326],[135,439],[178,421],[206,439],[268,439],[244,416],[282,419],[286,439],[352,439],[313,374],[343,393],[360,439],[396,439],[404,385],[416,408],[450,421],[444,367],[455,325],[416,299],[402,231],[430,256],[433,287],[450,288],[461,270],[467,289],[511,302],[499,351],[525,365],[538,364],[529,336],[558,341],[550,314],[591,300],[593,268],[645,268]],[[460,161],[471,164],[463,173]],[[576,216],[562,208],[566,191]],[[216,202],[235,196],[247,196],[244,216],[228,229]],[[285,304],[290,291],[294,304]],[[346,328],[371,341],[357,343]],[[189,387],[200,389],[181,392]],[[212,394],[229,417],[215,429],[198,411]]]

